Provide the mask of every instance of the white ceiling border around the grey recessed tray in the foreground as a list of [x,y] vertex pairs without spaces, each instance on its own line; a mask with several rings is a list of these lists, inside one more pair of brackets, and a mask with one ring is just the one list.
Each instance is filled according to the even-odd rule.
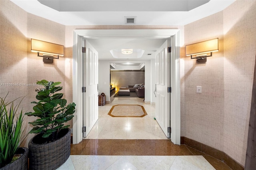
[[[66,26],[125,25],[125,16],[136,16],[136,25],[175,26],[186,25],[210,16],[235,0],[210,0],[206,4],[202,2],[208,0],[40,0],[48,5],[57,6],[56,8],[61,6],[65,12],[54,10],[38,0],[11,1],[31,14]],[[97,5],[93,5],[94,3]],[[87,4],[91,5],[90,9],[87,8]],[[203,5],[199,6],[200,4]],[[199,7],[195,8],[196,6]],[[184,7],[187,9],[184,10]]]

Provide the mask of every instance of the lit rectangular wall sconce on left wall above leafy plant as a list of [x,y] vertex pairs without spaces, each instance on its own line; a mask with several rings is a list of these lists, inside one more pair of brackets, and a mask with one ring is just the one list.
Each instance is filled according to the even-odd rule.
[[31,39],[31,52],[36,52],[38,57],[43,57],[46,63],[53,63],[53,59],[64,56],[64,45]]

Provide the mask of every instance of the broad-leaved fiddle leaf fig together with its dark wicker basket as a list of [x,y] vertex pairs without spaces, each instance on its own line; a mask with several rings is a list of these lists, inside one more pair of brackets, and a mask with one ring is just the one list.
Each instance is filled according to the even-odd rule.
[[26,115],[39,117],[29,124],[34,128],[29,133],[36,133],[28,143],[29,168],[31,169],[56,169],[60,167],[70,156],[70,125],[64,123],[70,121],[75,112],[75,103],[68,105],[66,99],[62,99],[63,93],[56,93],[63,87],[57,86],[60,82],[41,80],[38,85],[44,88],[36,89],[37,102],[33,107],[34,112]]

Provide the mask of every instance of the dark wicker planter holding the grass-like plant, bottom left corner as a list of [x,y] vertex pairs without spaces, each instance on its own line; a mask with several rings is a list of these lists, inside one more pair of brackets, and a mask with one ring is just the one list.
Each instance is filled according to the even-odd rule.
[[18,148],[16,154],[22,154],[20,158],[8,164],[0,170],[27,170],[28,169],[28,148]]

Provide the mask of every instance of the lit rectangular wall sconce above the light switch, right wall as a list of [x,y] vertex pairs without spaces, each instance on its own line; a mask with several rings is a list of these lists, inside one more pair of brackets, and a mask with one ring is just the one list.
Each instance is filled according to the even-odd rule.
[[[219,38],[186,45],[186,56],[196,59],[197,63],[206,62],[206,57],[211,57],[212,52],[216,51],[219,51]],[[210,55],[207,55],[207,53],[210,53]],[[193,55],[195,56],[192,57]]]

